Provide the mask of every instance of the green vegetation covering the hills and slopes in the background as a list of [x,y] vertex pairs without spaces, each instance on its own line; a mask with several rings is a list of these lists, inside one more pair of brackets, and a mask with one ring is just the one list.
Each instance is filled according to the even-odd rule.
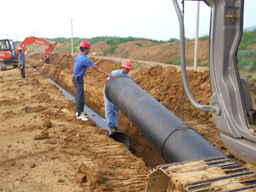
[[[199,40],[201,41],[205,41],[209,39],[208,35],[203,35],[198,37]],[[58,37],[58,38],[52,38],[49,39],[51,41],[55,41],[57,43],[71,43],[71,38],[65,38],[65,37]],[[78,38],[78,37],[74,37],[73,38],[73,47],[79,46],[79,44],[81,43],[81,41],[83,40],[87,40],[91,43],[91,45],[99,42],[99,41],[105,41],[107,42],[109,45],[111,45],[110,49],[104,50],[103,51],[103,56],[112,54],[115,52],[115,49],[118,47],[119,44],[121,43],[126,43],[128,41],[151,41],[154,42],[156,44],[163,44],[163,43],[172,43],[175,41],[178,41],[177,38],[170,38],[168,41],[158,41],[158,40],[153,40],[153,39],[148,39],[148,38],[139,38],[139,37],[117,37],[117,36],[97,36],[97,37],[93,37],[93,38]],[[192,41],[195,39],[189,39],[185,37],[185,40],[187,41]],[[248,46],[256,44],[256,30],[253,31],[245,31],[243,33],[241,42],[239,44],[239,51],[238,51],[238,68],[239,70],[246,70],[249,72],[254,72],[256,71],[256,52],[251,50],[251,48],[249,48]],[[140,43],[136,43],[136,45],[138,46],[142,46]],[[125,45],[124,45],[125,46]],[[56,48],[61,50],[62,48]],[[67,50],[69,50],[71,52],[71,46],[69,46],[68,48],[65,48]],[[75,48],[74,48],[75,49]],[[122,48],[122,50],[124,50],[124,48]],[[74,50],[76,51],[76,50]],[[131,58],[130,58],[131,59]],[[206,62],[204,62],[202,64],[202,66],[208,66],[208,57],[204,59]],[[180,60],[169,60],[167,63],[168,64],[173,64],[173,65],[180,65]],[[191,61],[187,61],[187,65],[190,65]]]

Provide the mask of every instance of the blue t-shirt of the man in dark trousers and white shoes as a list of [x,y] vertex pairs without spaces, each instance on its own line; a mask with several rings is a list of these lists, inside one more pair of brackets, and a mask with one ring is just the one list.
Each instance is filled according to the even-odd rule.
[[93,65],[93,62],[87,58],[85,54],[80,53],[80,55],[74,59],[73,76],[83,78],[87,67],[89,68]]

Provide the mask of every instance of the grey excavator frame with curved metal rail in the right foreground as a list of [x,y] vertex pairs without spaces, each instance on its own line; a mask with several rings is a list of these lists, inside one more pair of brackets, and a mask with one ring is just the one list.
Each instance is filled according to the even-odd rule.
[[183,84],[195,108],[212,112],[216,127],[229,151],[256,166],[256,113],[245,79],[237,67],[238,46],[243,34],[244,0],[205,0],[211,7],[209,73],[210,105],[196,103],[188,86],[185,67],[184,26],[177,0],[173,0],[181,36]]

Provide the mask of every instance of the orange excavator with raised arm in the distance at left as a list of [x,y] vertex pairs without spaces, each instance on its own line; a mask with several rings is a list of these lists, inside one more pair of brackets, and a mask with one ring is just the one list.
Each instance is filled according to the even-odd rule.
[[[0,62],[1,62],[1,70],[6,69],[6,66],[12,65],[13,67],[18,66],[18,51],[15,52],[15,46],[11,39],[3,39],[0,40],[1,43],[1,51],[0,51]],[[56,47],[57,43],[54,41],[49,41],[47,39],[38,38],[35,36],[28,36],[24,39],[21,43],[20,47],[22,51],[25,53],[27,47],[31,43],[37,43],[40,45],[49,46],[47,50],[43,53],[42,57],[40,58],[39,62],[37,63],[37,67],[41,67],[44,64],[44,61],[47,59],[46,55],[52,53],[54,48]],[[7,46],[6,46],[7,45]]]

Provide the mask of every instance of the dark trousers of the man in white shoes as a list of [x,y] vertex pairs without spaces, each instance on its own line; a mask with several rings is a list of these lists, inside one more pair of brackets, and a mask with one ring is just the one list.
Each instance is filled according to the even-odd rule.
[[84,79],[73,76],[72,83],[74,87],[76,111],[84,111],[84,107],[85,107]]

